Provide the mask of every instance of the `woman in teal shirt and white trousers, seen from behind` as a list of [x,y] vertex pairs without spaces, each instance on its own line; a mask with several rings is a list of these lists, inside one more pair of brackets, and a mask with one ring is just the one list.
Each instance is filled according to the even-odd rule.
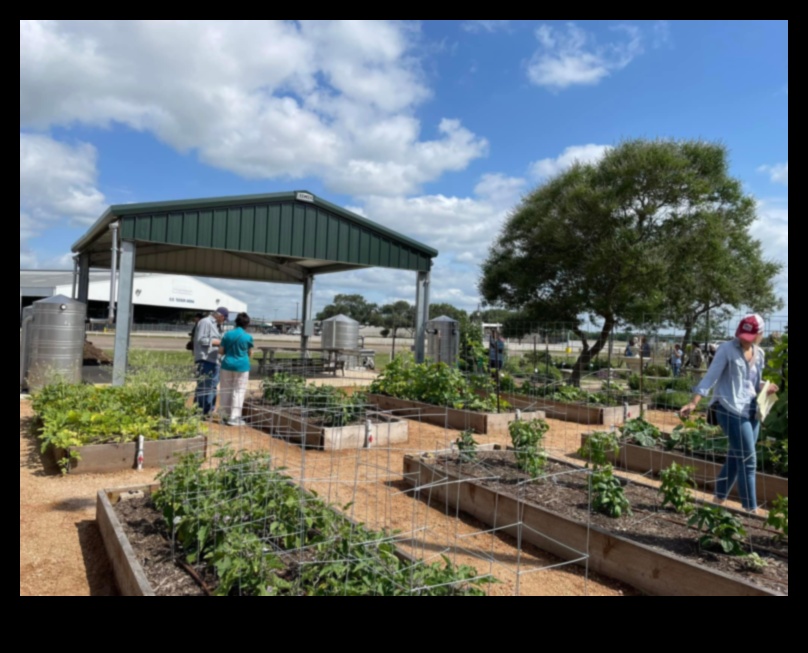
[[230,426],[245,426],[241,417],[247,387],[250,381],[250,356],[252,355],[252,336],[247,333],[250,316],[239,313],[236,328],[222,338],[219,354],[222,356],[222,389],[219,400],[219,411],[222,420]]

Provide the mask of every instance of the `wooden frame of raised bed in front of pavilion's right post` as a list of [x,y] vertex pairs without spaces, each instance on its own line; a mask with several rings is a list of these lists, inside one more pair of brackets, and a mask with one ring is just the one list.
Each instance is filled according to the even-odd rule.
[[[386,395],[369,394],[369,404],[380,410],[394,411],[402,417],[426,424],[442,426],[457,431],[473,430],[481,435],[501,435],[508,433],[508,425],[517,420],[515,411],[508,413],[480,413],[471,410],[456,410],[426,404],[420,401],[395,399]],[[544,413],[530,409],[525,415],[530,419],[544,419]]]

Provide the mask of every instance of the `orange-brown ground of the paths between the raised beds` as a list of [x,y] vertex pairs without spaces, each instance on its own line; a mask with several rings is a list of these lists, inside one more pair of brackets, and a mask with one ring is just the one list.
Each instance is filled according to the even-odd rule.
[[[31,433],[30,403],[20,401],[20,595],[109,596],[115,594],[112,572],[98,527],[95,504],[98,490],[151,483],[154,471],[62,477],[58,468],[40,455]],[[574,456],[584,425],[548,420],[550,453]],[[213,447],[267,450],[275,464],[329,503],[353,503],[349,516],[370,528],[390,528],[412,534],[402,548],[428,561],[443,553],[456,564],[470,564],[481,574],[500,581],[492,595],[510,596],[622,596],[636,592],[609,579],[589,576],[583,569],[563,566],[537,549],[519,554],[512,538],[484,534],[483,524],[468,517],[445,514],[445,506],[430,506],[408,495],[402,478],[403,456],[450,447],[456,431],[410,422],[410,442],[404,449],[303,451],[249,428],[209,427]],[[478,438],[480,444],[507,445],[507,437]],[[631,476],[631,475],[627,475]],[[492,562],[493,561],[493,562]],[[531,570],[540,573],[525,573]],[[518,571],[523,572],[521,575]]]

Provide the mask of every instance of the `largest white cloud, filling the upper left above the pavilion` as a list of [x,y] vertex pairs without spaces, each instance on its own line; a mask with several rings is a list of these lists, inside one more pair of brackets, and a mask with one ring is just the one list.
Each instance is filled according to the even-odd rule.
[[20,125],[121,123],[248,178],[414,193],[487,150],[456,120],[422,137],[417,44],[397,21],[20,21]]

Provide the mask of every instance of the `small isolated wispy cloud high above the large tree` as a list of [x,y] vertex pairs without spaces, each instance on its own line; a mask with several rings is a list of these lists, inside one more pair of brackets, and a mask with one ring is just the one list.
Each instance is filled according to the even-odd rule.
[[528,63],[528,79],[555,91],[598,84],[643,52],[638,28],[621,25],[614,31],[622,38],[600,45],[593,35],[574,23],[569,23],[566,30],[542,25],[536,30],[540,47]]

